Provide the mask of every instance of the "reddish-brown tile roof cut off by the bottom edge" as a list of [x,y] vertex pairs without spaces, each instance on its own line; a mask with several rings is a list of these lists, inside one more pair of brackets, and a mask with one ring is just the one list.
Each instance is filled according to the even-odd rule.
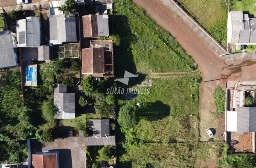
[[32,155],[34,168],[57,168],[57,154]]

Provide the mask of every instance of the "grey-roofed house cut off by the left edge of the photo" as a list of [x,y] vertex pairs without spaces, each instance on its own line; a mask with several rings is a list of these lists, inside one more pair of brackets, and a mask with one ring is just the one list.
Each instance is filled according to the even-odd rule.
[[18,66],[15,34],[0,31],[0,69]]

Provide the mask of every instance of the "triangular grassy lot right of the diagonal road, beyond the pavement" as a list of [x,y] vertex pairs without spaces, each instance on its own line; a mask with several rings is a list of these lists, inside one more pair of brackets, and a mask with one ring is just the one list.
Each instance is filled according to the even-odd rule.
[[225,0],[177,0],[218,42],[227,43]]

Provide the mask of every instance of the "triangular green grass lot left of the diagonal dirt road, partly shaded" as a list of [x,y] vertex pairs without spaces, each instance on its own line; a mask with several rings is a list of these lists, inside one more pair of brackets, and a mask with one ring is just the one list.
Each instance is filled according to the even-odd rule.
[[113,34],[120,38],[114,52],[117,76],[123,76],[124,70],[152,73],[197,68],[169,32],[160,28],[141,8],[130,0],[114,0],[114,3],[110,20],[114,23]]

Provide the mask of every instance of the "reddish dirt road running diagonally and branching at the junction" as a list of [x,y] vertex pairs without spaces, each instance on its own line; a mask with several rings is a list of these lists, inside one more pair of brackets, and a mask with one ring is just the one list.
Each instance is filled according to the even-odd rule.
[[[213,90],[219,84],[224,86],[226,80],[256,80],[256,62],[225,63],[192,31],[177,14],[165,6],[160,0],[133,0],[141,6],[158,25],[169,31],[186,52],[197,62],[201,76],[206,82],[201,84],[200,95],[200,136],[208,137],[206,129],[215,128],[218,138],[218,118],[213,104]],[[211,81],[213,80],[213,81]]]

